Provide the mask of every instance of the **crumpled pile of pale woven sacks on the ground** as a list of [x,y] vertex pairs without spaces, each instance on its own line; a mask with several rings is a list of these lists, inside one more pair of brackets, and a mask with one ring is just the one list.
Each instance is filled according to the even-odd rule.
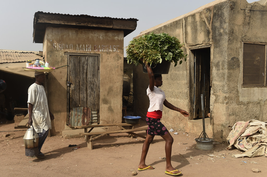
[[236,122],[227,137],[229,146],[226,149],[230,150],[234,145],[238,150],[245,151],[243,154],[235,154],[235,158],[267,156],[266,127],[266,122],[254,119]]

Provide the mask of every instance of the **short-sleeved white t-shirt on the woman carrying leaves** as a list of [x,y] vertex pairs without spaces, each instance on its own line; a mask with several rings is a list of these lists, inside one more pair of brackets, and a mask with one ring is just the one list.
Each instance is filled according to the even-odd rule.
[[158,111],[158,110],[162,111],[163,102],[166,98],[163,90],[154,86],[154,91],[151,92],[151,90],[148,87],[147,96],[149,97],[149,101],[150,101],[148,112],[153,112],[153,111]]

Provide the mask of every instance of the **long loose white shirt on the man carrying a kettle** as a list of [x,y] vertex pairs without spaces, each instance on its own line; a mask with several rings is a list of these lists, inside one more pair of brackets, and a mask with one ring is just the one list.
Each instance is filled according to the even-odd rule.
[[42,133],[43,129],[45,131],[51,129],[51,120],[44,86],[36,83],[32,84],[28,89],[27,103],[33,104],[32,119],[35,131]]

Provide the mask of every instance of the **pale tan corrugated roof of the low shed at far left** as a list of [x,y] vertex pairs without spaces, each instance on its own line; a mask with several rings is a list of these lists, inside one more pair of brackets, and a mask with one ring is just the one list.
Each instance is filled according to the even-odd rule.
[[0,49],[0,63],[23,62],[36,59],[42,60],[43,58],[38,56],[38,54],[39,52],[36,51]]

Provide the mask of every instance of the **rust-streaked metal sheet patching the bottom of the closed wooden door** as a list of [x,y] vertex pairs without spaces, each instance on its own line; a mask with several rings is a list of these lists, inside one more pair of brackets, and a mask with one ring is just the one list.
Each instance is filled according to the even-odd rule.
[[86,107],[72,108],[69,113],[69,126],[84,126],[91,124],[91,109]]

